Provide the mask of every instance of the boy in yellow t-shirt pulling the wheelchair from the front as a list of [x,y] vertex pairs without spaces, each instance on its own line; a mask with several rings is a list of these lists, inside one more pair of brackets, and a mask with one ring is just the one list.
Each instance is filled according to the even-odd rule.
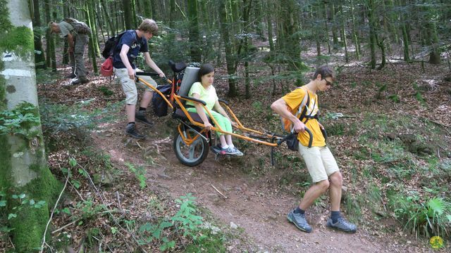
[[[334,80],[335,72],[328,65],[322,65],[316,69],[313,78],[308,84],[279,98],[271,105],[271,109],[281,117],[290,120],[294,131],[299,133],[297,136],[299,140],[299,155],[304,159],[311,179],[314,182],[307,190],[307,193],[304,194],[299,206],[287,216],[288,220],[294,223],[297,228],[307,233],[310,233],[312,228],[307,219],[305,219],[305,210],[328,189],[331,215],[326,225],[347,233],[355,233],[357,231],[357,226],[346,221],[340,214],[342,175],[321,133],[323,125],[314,117],[318,113],[318,96],[316,92],[327,91],[332,87]],[[305,114],[307,118],[301,121],[295,114],[307,93],[310,98]],[[311,148],[308,148],[309,135],[306,133],[305,127],[310,129],[313,135]]]

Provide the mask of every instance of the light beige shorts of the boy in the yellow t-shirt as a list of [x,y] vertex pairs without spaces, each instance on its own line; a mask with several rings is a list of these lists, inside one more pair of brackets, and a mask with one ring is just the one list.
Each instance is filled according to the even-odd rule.
[[299,145],[299,154],[304,158],[314,183],[326,180],[339,171],[338,164],[327,146],[307,148]]

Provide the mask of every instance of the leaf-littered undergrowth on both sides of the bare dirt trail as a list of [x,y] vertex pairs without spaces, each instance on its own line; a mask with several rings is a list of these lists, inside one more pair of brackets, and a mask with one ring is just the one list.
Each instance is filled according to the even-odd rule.
[[[319,94],[321,122],[346,187],[342,211],[381,238],[409,243],[404,235],[414,235],[425,248],[433,235],[450,242],[451,88],[440,79],[444,72],[434,66],[421,72],[417,65],[389,65],[378,72],[343,67],[333,89]],[[222,77],[225,70],[217,74]],[[295,84],[257,84],[254,75],[252,98],[230,99],[231,107],[246,126],[280,133],[269,106]],[[54,217],[51,247],[225,252],[233,238],[242,239],[197,207],[192,196],[173,199],[166,189],[149,185],[144,167],[112,164],[95,148],[88,131],[125,120],[117,116],[123,107],[119,85],[106,85],[106,79],[66,88],[60,83],[39,84],[49,166],[61,181],[70,176]],[[215,86],[225,97],[226,80],[217,78]],[[311,185],[297,153],[276,148],[271,167],[271,148],[240,140],[236,145],[248,159],[226,161],[233,167],[299,199]],[[327,207],[328,197],[314,205]]]

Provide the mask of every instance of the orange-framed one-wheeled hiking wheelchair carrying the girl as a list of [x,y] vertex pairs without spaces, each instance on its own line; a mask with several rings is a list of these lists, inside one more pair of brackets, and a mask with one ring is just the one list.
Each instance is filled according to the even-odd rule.
[[[235,121],[238,125],[234,128],[242,134],[224,131],[211,115],[210,110],[205,107],[206,103],[204,101],[187,96],[192,84],[198,81],[197,74],[199,72],[199,67],[187,67],[185,63],[173,63],[172,61],[169,62],[169,65],[174,73],[172,81],[166,80],[168,83],[172,84],[171,94],[169,96],[161,93],[158,89],[140,77],[142,75],[158,77],[158,74],[137,72],[137,82],[141,82],[150,89],[154,90],[156,93],[159,93],[164,98],[166,103],[168,103],[168,106],[173,109],[172,117],[178,121],[177,131],[175,131],[173,138],[173,150],[175,152],[175,156],[182,164],[190,167],[201,164],[206,159],[210,148],[214,152],[215,158],[217,159],[220,154],[216,152],[216,148],[212,144],[212,141],[215,139],[212,137],[212,134],[216,136],[216,131],[222,134],[230,134],[231,136],[246,141],[271,146],[271,164],[274,164],[273,148],[282,144],[286,138],[296,134],[280,135],[268,131],[262,133],[261,131],[247,128],[240,122],[239,119],[237,119],[233,111],[230,109],[228,102],[220,99],[219,103],[221,106],[224,110],[226,110],[226,112],[228,112],[230,119],[233,119],[233,121]],[[186,101],[191,101],[192,103],[202,105],[206,111],[207,117],[209,117],[209,121],[213,125],[211,130],[204,127],[204,123],[197,112],[188,112],[186,110]],[[310,136],[310,140],[312,140],[313,138],[311,131],[307,128],[306,131]]]

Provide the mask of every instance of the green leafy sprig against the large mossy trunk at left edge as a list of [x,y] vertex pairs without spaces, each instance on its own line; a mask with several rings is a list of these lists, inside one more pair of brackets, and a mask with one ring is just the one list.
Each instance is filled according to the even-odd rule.
[[0,112],[0,135],[13,134],[31,139],[39,133],[33,126],[39,126],[40,122],[36,106],[23,102],[11,111]]

